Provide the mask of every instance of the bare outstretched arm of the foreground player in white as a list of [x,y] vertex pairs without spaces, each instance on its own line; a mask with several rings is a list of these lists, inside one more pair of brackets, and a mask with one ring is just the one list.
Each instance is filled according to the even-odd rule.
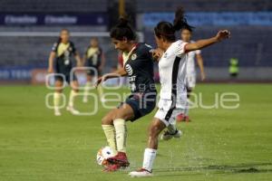
[[217,33],[217,35],[212,38],[199,40],[195,43],[186,44],[185,50],[186,50],[186,52],[200,50],[200,49],[205,48],[213,43],[219,43],[219,42],[226,40],[228,38],[230,38],[230,32],[228,32],[228,30],[220,30],[219,33]]

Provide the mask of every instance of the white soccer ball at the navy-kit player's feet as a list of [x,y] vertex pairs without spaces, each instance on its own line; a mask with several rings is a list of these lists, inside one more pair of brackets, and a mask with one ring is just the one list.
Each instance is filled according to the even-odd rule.
[[97,152],[96,161],[97,164],[103,167],[106,167],[108,165],[107,159],[109,157],[114,157],[114,152],[112,148],[109,146],[100,148]]

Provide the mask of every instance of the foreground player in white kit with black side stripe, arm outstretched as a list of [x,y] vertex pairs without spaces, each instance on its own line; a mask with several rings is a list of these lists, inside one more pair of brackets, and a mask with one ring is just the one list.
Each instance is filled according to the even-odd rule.
[[[148,148],[144,151],[143,165],[138,171],[133,171],[130,176],[152,176],[153,162],[158,149],[160,132],[175,121],[187,102],[186,92],[186,63],[187,53],[209,46],[229,37],[227,30],[219,31],[216,36],[199,40],[196,43],[176,41],[175,32],[179,31],[186,23],[183,10],[176,12],[174,24],[160,22],[154,28],[155,40],[158,47],[164,52],[160,58],[160,100],[159,110],[151,122],[149,129]],[[171,132],[175,134],[176,128]]]

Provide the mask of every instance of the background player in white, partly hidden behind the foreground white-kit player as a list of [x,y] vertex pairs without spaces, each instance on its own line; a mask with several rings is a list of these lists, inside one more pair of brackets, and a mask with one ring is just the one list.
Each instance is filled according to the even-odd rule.
[[[194,43],[194,41],[191,40],[192,36],[192,26],[186,25],[182,28],[181,30],[181,39],[183,42],[186,43]],[[188,52],[188,62],[187,62],[187,98],[189,100],[189,94],[192,92],[192,90],[196,86],[196,81],[197,81],[197,71],[196,71],[196,65],[195,65],[195,60],[197,58],[197,62],[199,65],[199,71],[200,71],[200,76],[201,76],[201,81],[205,80],[205,71],[204,71],[204,66],[203,66],[203,59],[201,56],[200,50]],[[177,117],[178,121],[189,121],[189,101],[187,102],[187,106],[184,110],[184,114],[180,114]]]

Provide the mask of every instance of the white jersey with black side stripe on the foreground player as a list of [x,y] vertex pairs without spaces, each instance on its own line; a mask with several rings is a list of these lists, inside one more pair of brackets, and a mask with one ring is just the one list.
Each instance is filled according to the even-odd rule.
[[[171,43],[159,62],[160,100],[172,100],[175,107],[186,102],[187,43],[179,40]],[[181,101],[181,102],[180,102]],[[182,106],[183,107],[183,106]]]

